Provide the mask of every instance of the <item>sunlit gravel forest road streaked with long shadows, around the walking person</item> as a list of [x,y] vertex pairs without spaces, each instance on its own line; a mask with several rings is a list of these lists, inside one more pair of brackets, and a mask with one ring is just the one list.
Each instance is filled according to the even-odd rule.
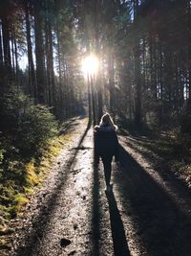
[[[120,167],[105,195],[94,168],[93,128],[74,122],[62,151],[17,232],[11,256],[190,256],[190,192],[161,175],[120,136]],[[162,172],[161,172],[162,173]]]

